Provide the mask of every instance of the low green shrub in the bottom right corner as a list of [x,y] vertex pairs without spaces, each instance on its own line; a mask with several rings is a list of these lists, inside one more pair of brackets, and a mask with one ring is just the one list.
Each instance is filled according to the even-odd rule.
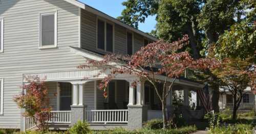
[[228,126],[215,127],[209,130],[209,133],[222,134],[250,134],[253,126],[250,124],[234,124]]

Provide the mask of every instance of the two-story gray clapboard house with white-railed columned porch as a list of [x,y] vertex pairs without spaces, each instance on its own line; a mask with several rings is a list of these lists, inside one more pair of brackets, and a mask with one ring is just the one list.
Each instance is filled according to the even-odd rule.
[[[97,88],[104,75],[93,77],[100,70],[77,69],[87,59],[101,60],[108,53],[133,54],[156,40],[79,1],[1,0],[0,128],[34,127],[13,98],[23,92],[20,86],[26,84],[25,77],[36,75],[46,77],[53,128],[66,129],[86,120],[94,129],[134,129],[161,117],[159,100],[146,82],[134,88],[130,83],[135,76],[120,75],[109,84],[109,97],[104,99]],[[176,84],[186,96],[189,90],[201,88],[187,80],[176,80]]]

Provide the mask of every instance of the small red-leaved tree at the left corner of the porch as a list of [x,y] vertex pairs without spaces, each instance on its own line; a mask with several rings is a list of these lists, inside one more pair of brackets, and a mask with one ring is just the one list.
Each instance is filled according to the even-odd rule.
[[48,88],[44,81],[34,76],[27,78],[29,84],[23,85],[23,91],[14,98],[20,108],[25,109],[24,116],[33,119],[37,128],[45,132],[48,130],[47,121],[51,117],[48,98]]

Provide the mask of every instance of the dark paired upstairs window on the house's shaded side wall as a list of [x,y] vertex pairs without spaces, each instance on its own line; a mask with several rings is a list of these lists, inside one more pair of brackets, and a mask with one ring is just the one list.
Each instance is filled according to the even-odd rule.
[[113,52],[114,25],[101,19],[98,19],[97,21],[97,49]]

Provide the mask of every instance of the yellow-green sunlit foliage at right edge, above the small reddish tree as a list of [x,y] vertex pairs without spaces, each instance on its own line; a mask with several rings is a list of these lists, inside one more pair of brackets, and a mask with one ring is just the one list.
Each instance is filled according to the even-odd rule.
[[[220,36],[215,46],[215,54],[219,59],[230,57],[246,59],[254,57],[256,52],[256,10],[250,11],[249,17],[241,23],[232,25]],[[252,16],[251,16],[252,15]]]

